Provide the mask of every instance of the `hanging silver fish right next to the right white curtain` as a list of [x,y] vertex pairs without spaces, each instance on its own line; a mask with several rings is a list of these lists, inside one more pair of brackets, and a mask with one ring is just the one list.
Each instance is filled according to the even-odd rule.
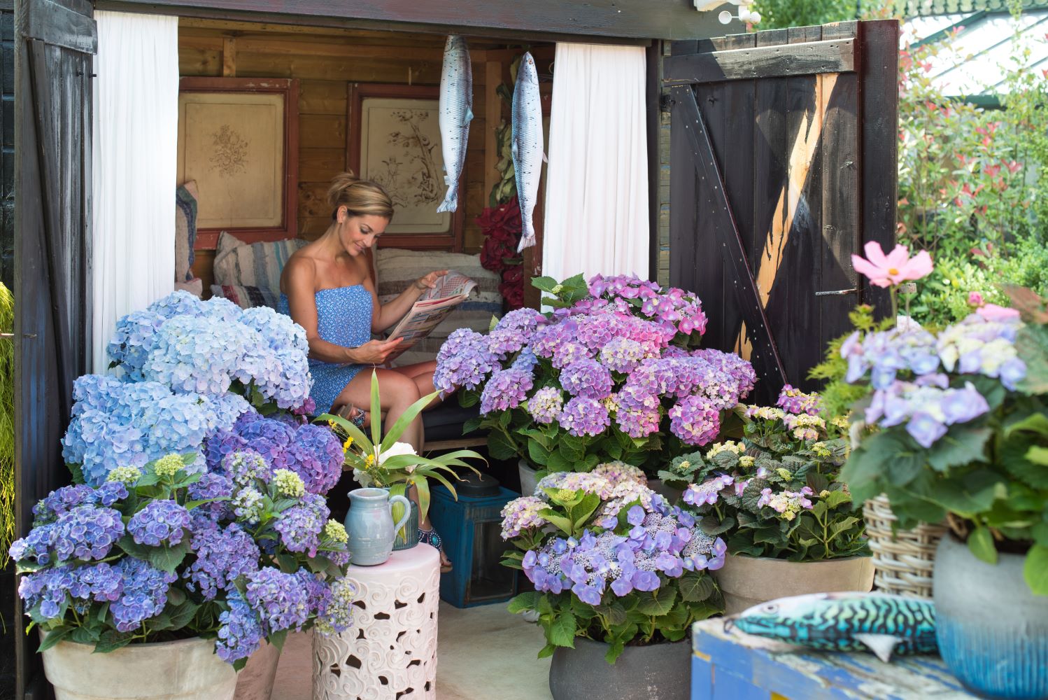
[[517,177],[517,201],[521,207],[520,253],[534,245],[532,215],[539,198],[539,179],[542,177],[542,97],[539,95],[539,72],[531,53],[525,53],[517,69],[512,108],[514,173]]

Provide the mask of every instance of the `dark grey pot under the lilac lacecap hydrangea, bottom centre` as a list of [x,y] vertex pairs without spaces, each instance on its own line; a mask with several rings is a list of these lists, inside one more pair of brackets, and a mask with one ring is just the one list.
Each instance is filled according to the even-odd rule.
[[558,647],[549,666],[553,700],[687,700],[692,648],[673,643],[627,647],[613,664],[604,660],[608,644],[584,637],[575,648]]

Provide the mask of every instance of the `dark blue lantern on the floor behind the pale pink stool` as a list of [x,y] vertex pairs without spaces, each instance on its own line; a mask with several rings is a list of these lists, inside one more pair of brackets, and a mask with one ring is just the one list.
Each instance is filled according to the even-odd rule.
[[498,494],[456,501],[442,486],[432,491],[430,520],[444,540],[454,568],[440,575],[440,598],[456,608],[508,600],[517,594],[517,570],[500,564],[510,548],[502,541],[502,507],[520,494],[499,487]]

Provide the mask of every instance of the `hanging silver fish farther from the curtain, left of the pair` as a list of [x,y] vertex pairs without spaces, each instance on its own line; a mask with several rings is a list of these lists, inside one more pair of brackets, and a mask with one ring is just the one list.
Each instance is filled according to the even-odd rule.
[[458,185],[465,167],[465,147],[473,121],[473,64],[462,37],[452,35],[444,44],[440,69],[440,148],[444,156],[447,194],[438,212],[458,209]]

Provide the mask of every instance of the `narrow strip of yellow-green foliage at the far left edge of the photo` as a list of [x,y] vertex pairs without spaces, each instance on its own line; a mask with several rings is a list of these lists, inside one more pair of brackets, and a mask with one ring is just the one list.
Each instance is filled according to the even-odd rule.
[[[0,332],[15,327],[15,299],[0,284]],[[15,541],[15,344],[0,338],[0,569]]]

